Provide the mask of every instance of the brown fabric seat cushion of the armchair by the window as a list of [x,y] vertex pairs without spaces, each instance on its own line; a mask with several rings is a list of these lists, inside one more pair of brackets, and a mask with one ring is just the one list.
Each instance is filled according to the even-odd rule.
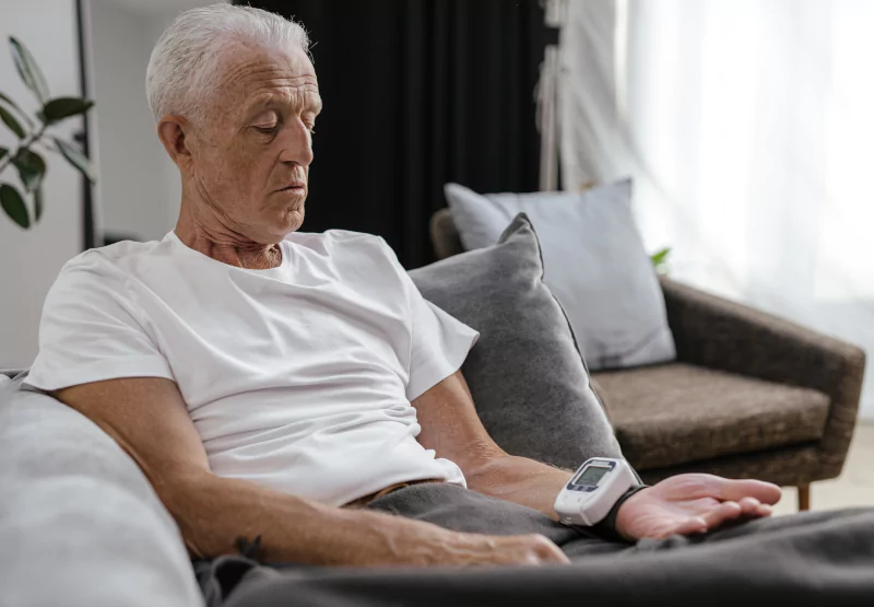
[[672,363],[595,373],[616,435],[639,470],[822,439],[817,390]]

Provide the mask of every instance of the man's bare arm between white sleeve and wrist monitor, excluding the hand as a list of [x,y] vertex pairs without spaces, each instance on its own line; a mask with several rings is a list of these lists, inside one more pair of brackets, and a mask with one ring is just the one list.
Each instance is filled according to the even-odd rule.
[[505,453],[483,428],[460,371],[416,398],[413,406],[422,425],[418,442],[454,462],[470,489],[558,518],[553,504],[571,472]]

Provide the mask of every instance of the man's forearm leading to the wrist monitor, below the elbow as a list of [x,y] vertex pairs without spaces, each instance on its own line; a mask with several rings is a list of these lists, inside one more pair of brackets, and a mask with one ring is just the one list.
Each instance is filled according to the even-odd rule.
[[553,505],[572,472],[525,457],[498,455],[468,472],[474,491],[539,510],[558,520]]

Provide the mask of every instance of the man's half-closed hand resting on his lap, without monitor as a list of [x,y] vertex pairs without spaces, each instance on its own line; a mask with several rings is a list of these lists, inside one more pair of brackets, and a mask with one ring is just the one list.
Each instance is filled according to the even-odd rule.
[[488,536],[454,534],[442,542],[430,564],[471,567],[477,564],[566,564],[564,552],[542,535]]

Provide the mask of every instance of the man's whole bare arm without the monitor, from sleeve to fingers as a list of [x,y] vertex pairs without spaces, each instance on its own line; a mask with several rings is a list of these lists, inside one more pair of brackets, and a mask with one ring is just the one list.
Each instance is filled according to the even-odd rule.
[[110,380],[54,396],[91,418],[133,457],[193,556],[233,553],[238,538],[261,536],[268,560],[322,565],[540,563],[563,558],[539,536],[459,534],[217,477],[210,471],[178,387],[168,380]]

